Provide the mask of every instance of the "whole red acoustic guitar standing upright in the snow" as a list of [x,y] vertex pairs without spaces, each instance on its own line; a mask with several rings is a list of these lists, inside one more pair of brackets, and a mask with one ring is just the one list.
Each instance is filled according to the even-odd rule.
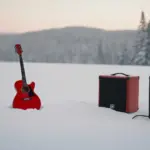
[[22,47],[20,44],[15,45],[16,53],[19,56],[22,80],[15,82],[16,96],[13,100],[13,108],[18,109],[40,109],[41,101],[38,95],[34,92],[35,82],[27,84],[25,69],[22,58]]

